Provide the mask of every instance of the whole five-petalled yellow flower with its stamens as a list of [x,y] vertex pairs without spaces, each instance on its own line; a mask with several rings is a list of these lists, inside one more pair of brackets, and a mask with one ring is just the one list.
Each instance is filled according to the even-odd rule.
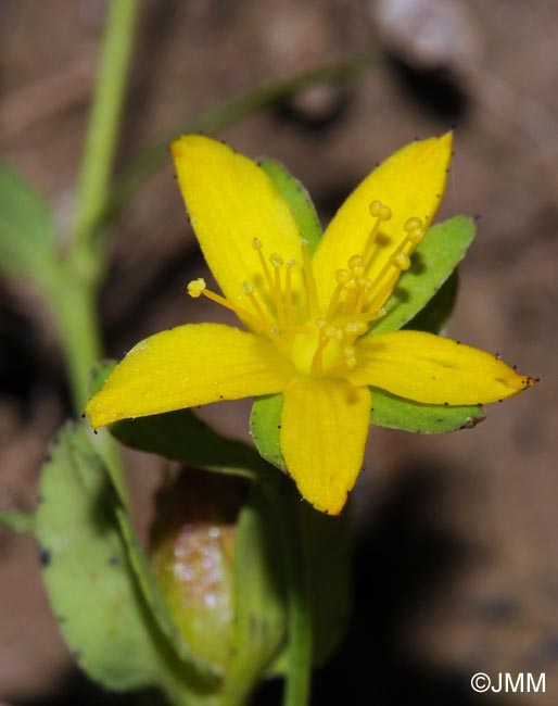
[[452,136],[416,141],[348,197],[313,256],[266,173],[220,142],[172,147],[192,226],[245,331],[191,324],[138,343],[87,404],[94,427],[281,392],[289,472],[317,509],[341,512],[360,469],[373,388],[430,404],[490,403],[531,387],[497,357],[418,331],[373,335],[443,193]]

